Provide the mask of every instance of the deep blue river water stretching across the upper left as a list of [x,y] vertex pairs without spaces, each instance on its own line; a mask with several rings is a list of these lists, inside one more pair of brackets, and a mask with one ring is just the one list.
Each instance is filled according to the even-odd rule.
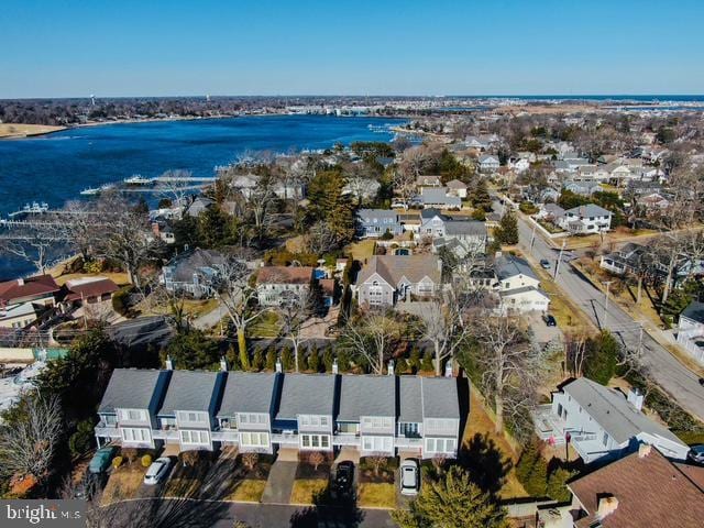
[[[68,129],[41,138],[0,141],[0,215],[32,201],[61,207],[87,187],[133,174],[154,177],[183,168],[212,176],[248,151],[284,153],[353,141],[389,141],[402,119],[267,116],[123,123]],[[370,127],[371,125],[371,127]],[[0,255],[0,277],[31,273]]]

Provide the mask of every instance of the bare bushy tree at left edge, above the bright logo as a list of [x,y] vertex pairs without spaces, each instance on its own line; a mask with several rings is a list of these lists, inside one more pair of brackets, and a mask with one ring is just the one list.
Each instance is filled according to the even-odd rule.
[[0,468],[9,475],[43,481],[50,472],[63,433],[62,407],[57,397],[25,395],[19,416],[0,428]]

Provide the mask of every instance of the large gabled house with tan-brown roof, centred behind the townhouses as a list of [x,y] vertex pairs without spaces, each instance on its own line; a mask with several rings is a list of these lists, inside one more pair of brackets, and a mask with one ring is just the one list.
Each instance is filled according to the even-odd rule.
[[354,289],[361,305],[394,306],[411,296],[435,295],[441,274],[442,262],[436,255],[377,255],[362,268]]

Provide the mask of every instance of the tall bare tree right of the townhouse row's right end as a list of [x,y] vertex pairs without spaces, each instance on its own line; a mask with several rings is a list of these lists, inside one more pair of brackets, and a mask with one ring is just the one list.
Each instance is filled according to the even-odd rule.
[[482,372],[485,394],[496,407],[496,431],[504,430],[506,413],[516,415],[531,404],[544,374],[544,350],[531,346],[517,318],[487,317],[479,312],[472,327],[482,344],[474,361]]

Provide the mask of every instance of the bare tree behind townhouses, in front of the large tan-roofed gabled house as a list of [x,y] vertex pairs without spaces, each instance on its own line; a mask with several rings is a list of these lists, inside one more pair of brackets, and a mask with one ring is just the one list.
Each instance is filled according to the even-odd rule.
[[362,360],[373,374],[383,374],[387,360],[398,344],[400,324],[384,310],[370,311],[359,319],[349,319],[342,331],[342,346],[353,358]]

